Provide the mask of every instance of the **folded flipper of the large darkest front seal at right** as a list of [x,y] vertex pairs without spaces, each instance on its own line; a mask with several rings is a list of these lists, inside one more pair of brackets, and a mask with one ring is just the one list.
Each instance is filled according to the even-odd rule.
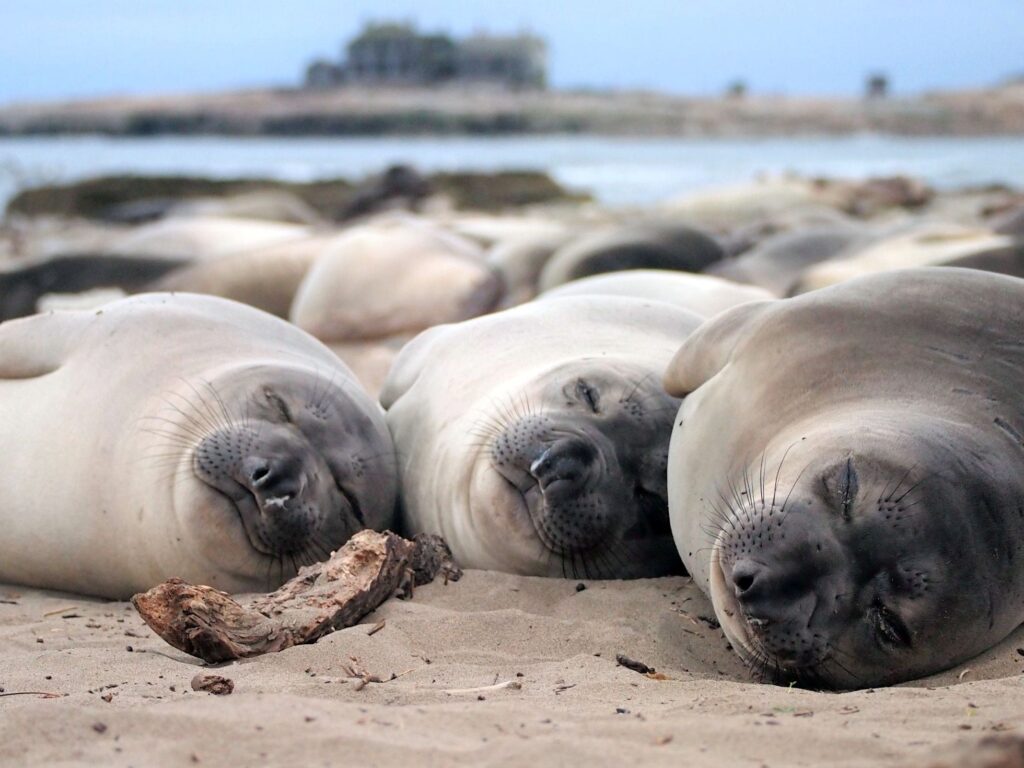
[[727,309],[690,334],[676,352],[663,384],[673,397],[684,397],[725,368],[736,344],[778,301],[755,301]]

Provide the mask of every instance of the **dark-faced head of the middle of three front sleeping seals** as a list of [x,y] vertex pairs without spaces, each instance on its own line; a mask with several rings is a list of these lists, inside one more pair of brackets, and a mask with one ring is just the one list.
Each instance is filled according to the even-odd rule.
[[466,449],[471,515],[498,526],[504,551],[528,553],[532,572],[682,572],[666,490],[678,407],[641,366],[600,358],[489,393]]

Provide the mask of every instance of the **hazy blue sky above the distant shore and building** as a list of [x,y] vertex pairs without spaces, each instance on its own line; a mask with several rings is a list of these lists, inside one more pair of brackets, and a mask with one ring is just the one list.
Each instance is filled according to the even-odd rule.
[[554,85],[854,93],[1024,74],[1024,0],[0,0],[0,103],[287,85],[368,19],[529,29]]

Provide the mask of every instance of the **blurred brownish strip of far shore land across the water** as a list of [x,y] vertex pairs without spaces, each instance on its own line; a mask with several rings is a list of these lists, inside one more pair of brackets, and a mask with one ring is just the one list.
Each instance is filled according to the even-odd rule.
[[0,106],[0,136],[1024,136],[1024,85],[877,99],[264,89]]

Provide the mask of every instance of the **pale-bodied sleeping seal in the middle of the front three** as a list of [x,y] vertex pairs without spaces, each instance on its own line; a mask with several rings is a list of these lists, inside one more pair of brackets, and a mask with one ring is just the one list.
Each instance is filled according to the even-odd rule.
[[418,336],[381,394],[403,529],[443,536],[471,568],[681,572],[665,497],[678,400],[659,377],[699,323],[662,302],[588,296]]

